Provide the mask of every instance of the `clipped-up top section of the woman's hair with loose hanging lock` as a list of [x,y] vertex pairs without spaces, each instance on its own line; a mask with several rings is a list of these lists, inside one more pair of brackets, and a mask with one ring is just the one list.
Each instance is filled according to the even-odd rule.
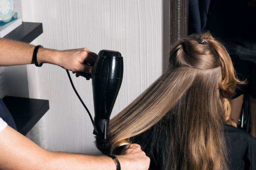
[[174,44],[170,51],[169,61],[171,67],[190,67],[199,70],[220,67],[220,69],[217,69],[217,72],[220,72],[218,81],[214,77],[207,75],[207,82],[212,83],[212,85],[218,82],[217,85],[220,92],[220,100],[223,103],[225,122],[236,126],[230,120],[231,110],[228,100],[233,97],[236,86],[244,84],[244,82],[236,78],[233,63],[220,40],[212,37],[209,31],[201,35],[190,35]]

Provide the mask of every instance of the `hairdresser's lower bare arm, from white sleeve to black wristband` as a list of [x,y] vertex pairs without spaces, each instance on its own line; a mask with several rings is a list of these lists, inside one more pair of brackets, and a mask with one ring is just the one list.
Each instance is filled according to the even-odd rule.
[[116,166],[107,156],[47,151],[9,126],[0,132],[0,170],[93,169],[115,170]]

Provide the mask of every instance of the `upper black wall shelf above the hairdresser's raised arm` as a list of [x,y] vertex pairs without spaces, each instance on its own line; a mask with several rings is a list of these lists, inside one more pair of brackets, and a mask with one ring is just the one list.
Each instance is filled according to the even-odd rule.
[[42,23],[22,22],[20,26],[3,38],[30,43],[43,33]]

